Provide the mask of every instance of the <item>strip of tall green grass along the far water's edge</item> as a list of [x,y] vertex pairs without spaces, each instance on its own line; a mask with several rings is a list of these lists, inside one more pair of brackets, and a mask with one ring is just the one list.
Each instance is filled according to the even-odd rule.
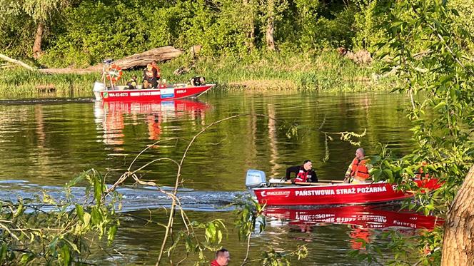
[[[317,55],[281,56],[254,53],[245,58],[199,58],[193,61],[181,56],[161,63],[161,76],[168,83],[182,83],[191,76],[206,76],[208,83],[230,89],[281,89],[317,91],[380,91],[393,86],[393,80],[375,80],[378,64],[359,66],[336,52]],[[180,76],[173,74],[179,67],[190,71]],[[124,71],[119,83],[141,71]],[[22,68],[0,72],[0,98],[91,96],[96,74],[46,75]],[[51,92],[53,91],[53,92]]]

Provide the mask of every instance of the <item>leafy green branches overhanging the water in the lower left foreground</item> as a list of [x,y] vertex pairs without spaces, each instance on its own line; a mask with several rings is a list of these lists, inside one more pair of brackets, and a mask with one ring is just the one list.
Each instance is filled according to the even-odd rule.
[[[73,203],[69,193],[59,203],[46,193],[43,200],[1,201],[1,265],[72,265],[81,262],[105,234],[109,241],[114,239],[118,198],[112,194],[104,201],[104,178],[95,170],[79,175],[68,186],[81,180],[87,180],[89,191],[94,190],[82,205]],[[89,204],[94,201],[95,205]]]

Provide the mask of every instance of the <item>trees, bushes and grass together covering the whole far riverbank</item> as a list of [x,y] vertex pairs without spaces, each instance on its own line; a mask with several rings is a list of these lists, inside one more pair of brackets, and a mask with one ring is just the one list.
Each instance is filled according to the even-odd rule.
[[[188,54],[161,64],[163,78],[184,82],[202,75],[235,86],[333,91],[389,90],[394,85],[380,81],[381,61],[356,64],[336,53],[341,46],[368,51],[370,62],[384,52],[376,46],[388,35],[380,27],[385,16],[375,12],[377,1],[42,2],[0,1],[5,14],[0,21],[4,36],[0,53],[41,68],[84,68],[157,46],[188,51],[199,45],[197,56]],[[474,6],[451,3],[462,7],[460,16],[474,31],[468,16]],[[466,47],[474,47],[472,41],[465,42]],[[193,63],[195,68],[187,76],[171,74]],[[127,73],[123,80],[133,73],[141,74]],[[57,96],[65,96],[71,91],[90,95],[91,83],[100,73],[42,77],[2,69],[0,75],[4,96],[36,96],[44,91],[41,88],[54,88]]]

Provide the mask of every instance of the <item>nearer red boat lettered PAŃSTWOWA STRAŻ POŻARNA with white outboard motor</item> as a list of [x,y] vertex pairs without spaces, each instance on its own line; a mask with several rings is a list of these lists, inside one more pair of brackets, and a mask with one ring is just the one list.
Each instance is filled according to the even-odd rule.
[[[435,190],[440,187],[436,179],[415,180],[420,188]],[[386,182],[364,184],[322,184],[287,185],[267,183],[265,173],[248,170],[246,186],[260,204],[271,205],[355,205],[387,203],[404,200],[413,193],[396,189],[395,184]]]

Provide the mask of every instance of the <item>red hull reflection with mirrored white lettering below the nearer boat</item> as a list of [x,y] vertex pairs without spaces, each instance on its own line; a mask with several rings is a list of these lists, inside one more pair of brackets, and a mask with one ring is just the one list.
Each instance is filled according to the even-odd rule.
[[375,206],[352,205],[335,208],[293,209],[267,208],[267,217],[288,220],[290,225],[316,225],[321,223],[357,225],[362,228],[381,229],[433,229],[444,220],[407,211],[383,210]]

